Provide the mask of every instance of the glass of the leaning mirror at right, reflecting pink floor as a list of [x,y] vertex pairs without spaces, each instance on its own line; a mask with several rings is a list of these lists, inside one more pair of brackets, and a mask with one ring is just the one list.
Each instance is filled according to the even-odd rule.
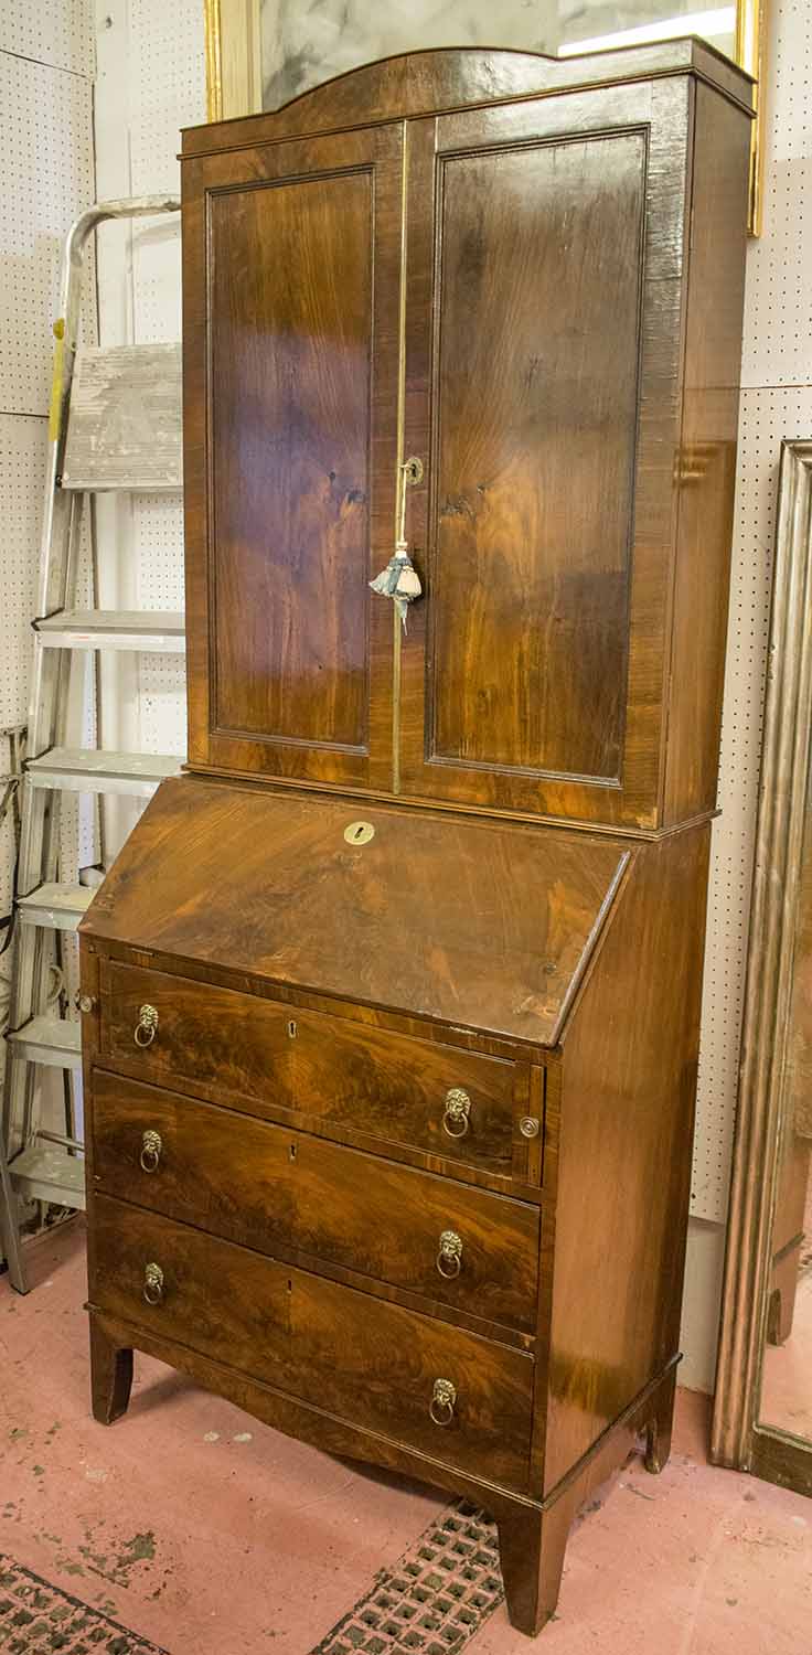
[[812,1442],[812,799],[794,917],[759,1423]]

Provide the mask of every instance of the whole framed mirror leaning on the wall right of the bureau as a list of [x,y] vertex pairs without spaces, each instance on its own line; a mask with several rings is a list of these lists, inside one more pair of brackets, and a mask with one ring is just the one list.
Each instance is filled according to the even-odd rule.
[[711,1458],[812,1494],[812,442],[782,447]]

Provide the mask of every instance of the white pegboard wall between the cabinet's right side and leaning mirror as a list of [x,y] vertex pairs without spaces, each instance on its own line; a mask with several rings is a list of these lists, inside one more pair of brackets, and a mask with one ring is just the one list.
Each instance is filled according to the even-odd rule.
[[812,437],[809,0],[767,8],[764,233],[748,252],[731,624],[691,1211],[723,1221],[739,1071],[781,442]]

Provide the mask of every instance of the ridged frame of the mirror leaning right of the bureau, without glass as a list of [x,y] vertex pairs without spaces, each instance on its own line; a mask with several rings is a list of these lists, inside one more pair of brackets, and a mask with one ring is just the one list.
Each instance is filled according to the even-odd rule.
[[812,780],[810,606],[812,442],[786,442],[711,1460],[812,1494],[812,1443],[759,1422],[797,889]]

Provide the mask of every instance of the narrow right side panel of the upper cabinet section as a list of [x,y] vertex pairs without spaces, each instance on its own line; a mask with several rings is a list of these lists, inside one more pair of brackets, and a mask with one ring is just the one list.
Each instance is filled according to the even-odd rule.
[[665,823],[716,804],[731,568],[749,119],[696,88]]

